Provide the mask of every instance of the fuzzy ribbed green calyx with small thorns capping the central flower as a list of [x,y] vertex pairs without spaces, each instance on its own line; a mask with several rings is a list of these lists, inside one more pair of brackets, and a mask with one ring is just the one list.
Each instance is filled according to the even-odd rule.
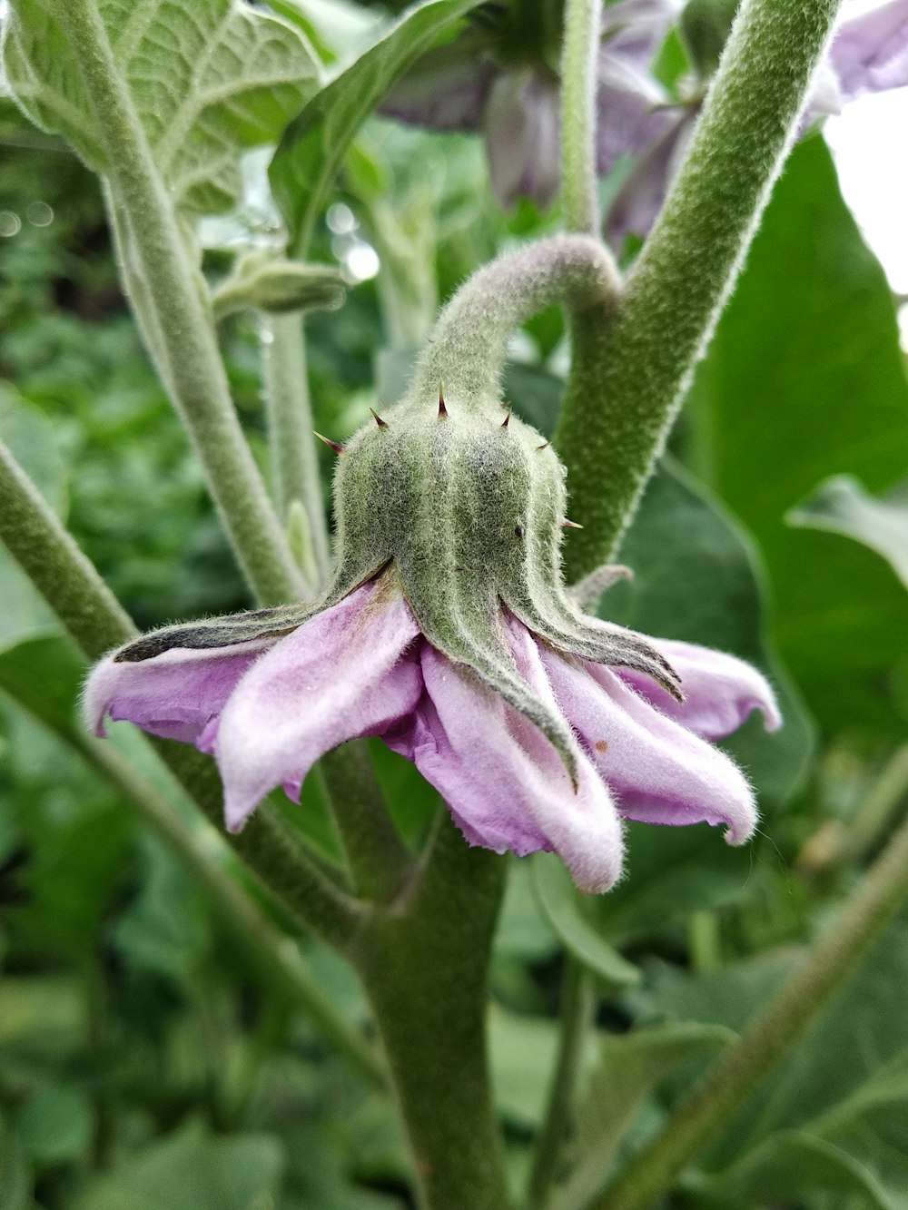
[[326,604],[392,565],[429,641],[530,719],[575,776],[570,730],[519,674],[507,612],[565,655],[633,668],[679,695],[643,638],[581,612],[562,582],[564,468],[496,401],[410,396],[339,454],[338,569]]

